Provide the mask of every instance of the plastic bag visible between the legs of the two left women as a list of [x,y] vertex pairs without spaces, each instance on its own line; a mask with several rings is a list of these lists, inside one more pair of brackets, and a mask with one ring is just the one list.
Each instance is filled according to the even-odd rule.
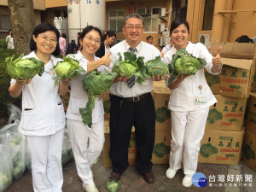
[[64,130],[64,138],[62,145],[61,164],[64,166],[73,157],[70,139],[67,130]]

